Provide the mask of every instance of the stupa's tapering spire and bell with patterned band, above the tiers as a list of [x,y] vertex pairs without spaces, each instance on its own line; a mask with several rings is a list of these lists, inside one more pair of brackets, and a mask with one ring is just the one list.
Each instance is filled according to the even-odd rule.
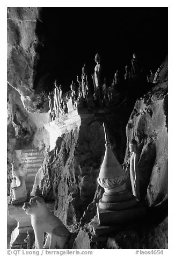
[[106,151],[103,163],[100,168],[98,182],[101,187],[112,189],[125,184],[126,174],[112,151],[105,123],[103,123],[103,127],[105,133]]

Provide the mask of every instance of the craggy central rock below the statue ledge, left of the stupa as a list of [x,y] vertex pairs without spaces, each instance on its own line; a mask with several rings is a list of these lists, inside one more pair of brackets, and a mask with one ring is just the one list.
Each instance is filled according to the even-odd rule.
[[78,228],[80,222],[83,226],[96,215],[96,202],[103,194],[97,177],[105,153],[104,120],[114,152],[122,163],[127,119],[118,110],[106,116],[104,113],[92,115],[92,118],[82,121],[80,126],[62,134],[35,179],[32,195],[35,195],[38,186],[41,191],[45,187],[43,197],[46,201],[55,201],[55,214],[72,231]]

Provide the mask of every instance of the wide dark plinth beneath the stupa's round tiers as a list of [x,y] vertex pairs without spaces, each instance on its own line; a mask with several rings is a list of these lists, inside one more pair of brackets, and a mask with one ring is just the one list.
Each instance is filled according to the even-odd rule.
[[145,214],[145,207],[138,203],[138,201],[134,207],[120,210],[101,209],[100,202],[97,203],[97,215],[100,225],[127,223],[133,221],[134,219],[142,217]]

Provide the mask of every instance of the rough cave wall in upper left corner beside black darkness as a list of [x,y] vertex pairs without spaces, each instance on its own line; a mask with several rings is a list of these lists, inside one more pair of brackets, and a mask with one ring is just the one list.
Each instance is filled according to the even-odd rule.
[[39,85],[34,88],[39,61],[38,26],[41,8],[8,8],[8,83],[18,90],[27,111],[48,109],[47,97]]

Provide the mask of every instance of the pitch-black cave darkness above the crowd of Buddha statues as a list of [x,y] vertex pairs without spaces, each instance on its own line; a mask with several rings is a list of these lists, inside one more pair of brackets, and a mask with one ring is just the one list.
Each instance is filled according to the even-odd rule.
[[[97,52],[101,73],[109,81],[116,69],[124,76],[133,52],[153,72],[167,53],[167,8],[42,8],[39,18],[36,90],[52,90],[57,79],[67,91],[84,63],[91,81]],[[161,40],[155,31],[163,35]]]

